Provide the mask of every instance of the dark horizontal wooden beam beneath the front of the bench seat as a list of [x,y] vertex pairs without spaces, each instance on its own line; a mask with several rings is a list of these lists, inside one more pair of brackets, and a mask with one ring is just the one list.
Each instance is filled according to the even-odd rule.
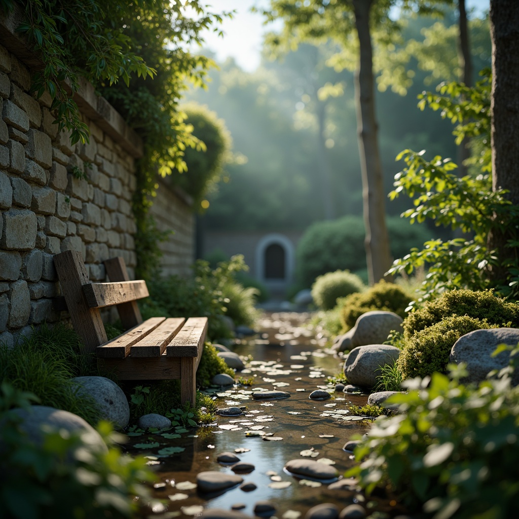
[[100,366],[114,371],[119,380],[178,380],[181,377],[180,358],[126,357],[126,359],[98,359]]

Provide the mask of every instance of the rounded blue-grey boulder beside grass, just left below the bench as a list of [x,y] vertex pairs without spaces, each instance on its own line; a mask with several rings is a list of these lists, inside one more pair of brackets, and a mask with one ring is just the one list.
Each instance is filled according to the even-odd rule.
[[99,409],[99,418],[125,429],[130,419],[130,406],[124,391],[110,378],[75,377],[72,382],[78,394],[91,397]]

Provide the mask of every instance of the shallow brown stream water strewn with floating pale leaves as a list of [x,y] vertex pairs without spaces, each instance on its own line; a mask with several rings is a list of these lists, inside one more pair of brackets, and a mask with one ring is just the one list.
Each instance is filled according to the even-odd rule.
[[[370,419],[352,417],[348,412],[352,404],[365,404],[367,395],[333,391],[334,386],[327,384],[327,377],[339,373],[344,361],[323,350],[308,328],[310,318],[308,313],[269,313],[261,320],[257,335],[239,339],[233,346],[233,351],[250,359],[237,378],[252,378],[252,386],[211,388],[209,392],[218,408],[242,407],[244,414],[217,416],[214,424],[181,432],[180,438],[145,434],[130,439],[130,453],[149,456],[159,480],[153,496],[161,501],[148,517],[193,517],[200,515],[202,507],[229,510],[238,503],[243,513],[254,516],[254,504],[263,500],[275,504],[276,517],[304,517],[309,508],[323,502],[335,503],[339,510],[360,503],[368,513],[397,513],[394,502],[366,498],[354,489],[330,490],[326,483],[303,480],[283,470],[291,459],[311,457],[333,464],[342,477],[355,462],[343,450],[345,443],[367,432],[371,424]],[[286,391],[290,397],[253,400],[252,392],[258,388]],[[329,391],[330,398],[310,400],[309,394],[319,388]],[[157,448],[132,448],[151,441],[159,442],[160,448],[184,450],[157,457]],[[223,452],[236,453],[240,461],[252,463],[253,471],[239,475],[244,482],[254,483],[254,490],[235,487],[213,495],[197,490],[199,472],[233,473],[216,460]]]

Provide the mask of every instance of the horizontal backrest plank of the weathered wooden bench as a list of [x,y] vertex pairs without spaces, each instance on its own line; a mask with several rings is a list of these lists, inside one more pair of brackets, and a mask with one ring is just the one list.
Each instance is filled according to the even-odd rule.
[[87,283],[83,285],[83,291],[90,308],[119,305],[149,295],[146,282],[142,279],[116,283]]

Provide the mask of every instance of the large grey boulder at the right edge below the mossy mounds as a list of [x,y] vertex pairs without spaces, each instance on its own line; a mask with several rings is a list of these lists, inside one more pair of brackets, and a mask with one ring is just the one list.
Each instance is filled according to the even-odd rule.
[[[462,335],[450,350],[450,362],[467,364],[469,376],[465,381],[479,383],[485,380],[488,372],[501,370],[508,366],[510,352],[503,351],[496,357],[491,354],[500,344],[517,346],[519,343],[519,329],[492,328],[490,330],[475,330]],[[512,384],[519,384],[519,372],[512,376]]]

